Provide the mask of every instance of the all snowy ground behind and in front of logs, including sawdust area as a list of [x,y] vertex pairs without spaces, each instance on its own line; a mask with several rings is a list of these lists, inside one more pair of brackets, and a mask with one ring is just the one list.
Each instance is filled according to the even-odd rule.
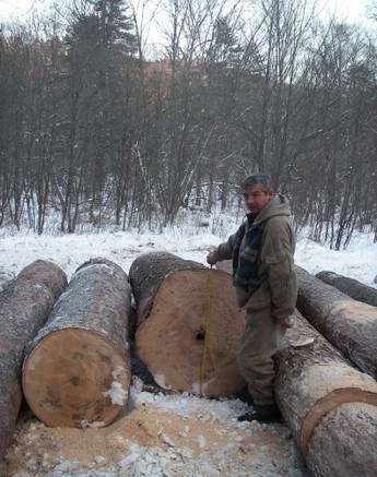
[[[104,257],[128,272],[140,253],[165,250],[205,262],[222,237],[204,228],[169,229],[162,235],[108,230],[101,234],[36,236],[2,232],[0,285],[36,259],[51,260],[68,277],[84,261]],[[345,251],[331,251],[301,237],[295,261],[377,286],[377,243],[358,235]],[[283,425],[238,424],[246,409],[238,400],[209,401],[189,395],[155,395],[134,380],[128,409],[105,429],[51,429],[30,412],[19,420],[14,441],[0,462],[1,476],[306,476],[299,453]]]

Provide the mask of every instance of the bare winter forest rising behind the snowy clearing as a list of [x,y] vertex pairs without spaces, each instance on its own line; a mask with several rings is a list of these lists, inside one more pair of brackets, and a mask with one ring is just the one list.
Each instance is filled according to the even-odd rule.
[[377,28],[305,0],[155,5],[163,22],[66,0],[0,26],[0,226],[162,230],[239,210],[259,170],[316,241],[377,240]]

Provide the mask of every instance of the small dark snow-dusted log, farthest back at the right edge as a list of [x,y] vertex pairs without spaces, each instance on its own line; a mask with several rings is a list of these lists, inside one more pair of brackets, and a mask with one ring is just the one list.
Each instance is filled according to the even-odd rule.
[[349,276],[338,275],[334,272],[319,272],[316,277],[338,288],[357,301],[377,307],[377,289],[357,282]]

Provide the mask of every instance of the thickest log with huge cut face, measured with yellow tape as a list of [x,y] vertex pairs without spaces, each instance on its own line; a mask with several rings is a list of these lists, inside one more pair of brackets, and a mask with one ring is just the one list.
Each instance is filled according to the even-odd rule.
[[134,260],[129,276],[137,354],[162,387],[213,397],[245,386],[236,362],[244,313],[228,274],[154,252]]

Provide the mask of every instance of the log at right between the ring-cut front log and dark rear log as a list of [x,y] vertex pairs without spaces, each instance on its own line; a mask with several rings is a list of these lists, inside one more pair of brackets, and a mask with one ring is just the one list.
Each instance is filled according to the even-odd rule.
[[296,267],[297,308],[362,371],[377,378],[377,310]]

